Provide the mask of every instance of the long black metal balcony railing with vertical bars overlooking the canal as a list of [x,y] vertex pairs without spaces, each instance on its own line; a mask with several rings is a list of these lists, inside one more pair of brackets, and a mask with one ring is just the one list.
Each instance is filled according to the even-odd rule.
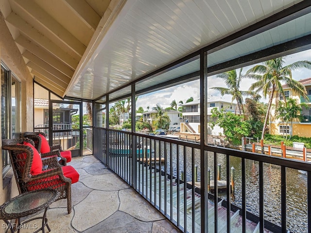
[[97,127],[94,155],[184,232],[311,232],[309,163]]

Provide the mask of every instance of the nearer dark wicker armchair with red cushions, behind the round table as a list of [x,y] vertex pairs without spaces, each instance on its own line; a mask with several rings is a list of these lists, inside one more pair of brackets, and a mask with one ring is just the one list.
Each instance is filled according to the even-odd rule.
[[57,200],[67,199],[67,210],[70,214],[71,183],[79,180],[79,173],[72,166],[61,166],[56,156],[53,156],[42,160],[42,167],[47,168],[46,170],[41,169],[41,172],[34,174],[33,162],[38,161],[34,154],[37,153],[40,161],[41,158],[34,151],[34,147],[23,145],[24,142],[34,146],[34,142],[28,138],[2,139],[2,149],[8,150],[10,154],[19,194],[38,189],[56,189],[60,193]]

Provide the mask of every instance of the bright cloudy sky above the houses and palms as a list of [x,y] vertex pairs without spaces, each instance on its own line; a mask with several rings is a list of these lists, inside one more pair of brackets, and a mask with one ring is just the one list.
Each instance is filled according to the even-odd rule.
[[[308,60],[311,61],[311,50],[305,50],[299,53],[294,53],[285,57],[285,66],[292,64],[296,61]],[[255,65],[243,67],[242,74],[254,67]],[[238,70],[237,70],[238,71]],[[303,68],[292,71],[293,78],[295,80],[307,79],[311,77],[311,70]],[[242,79],[240,90],[246,91],[249,89],[253,80]],[[207,77],[207,85],[210,87],[226,87],[224,81],[220,78],[217,78],[216,75]],[[207,95],[221,97],[220,92],[212,89],[207,90]],[[267,102],[268,100],[261,95],[261,102]],[[191,81],[189,83],[184,83],[176,85],[174,87],[166,88],[160,91],[149,93],[138,97],[136,108],[139,106],[143,107],[146,111],[147,106],[150,107],[150,110],[155,107],[156,104],[160,104],[163,108],[169,107],[173,100],[176,100],[178,103],[180,100],[186,102],[190,97],[193,97],[194,100],[198,100],[200,97],[200,82],[199,80]],[[223,97],[225,101],[231,102],[232,96],[225,95]]]

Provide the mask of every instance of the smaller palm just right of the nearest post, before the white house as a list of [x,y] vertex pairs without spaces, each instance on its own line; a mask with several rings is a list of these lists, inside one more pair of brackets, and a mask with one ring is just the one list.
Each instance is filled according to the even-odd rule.
[[222,96],[231,95],[232,101],[233,100],[237,101],[237,107],[235,109],[235,113],[237,112],[237,108],[238,108],[240,115],[244,113],[242,96],[251,96],[254,94],[253,92],[250,92],[250,91],[240,91],[240,84],[243,78],[242,69],[243,68],[240,69],[239,74],[237,74],[237,71],[234,69],[234,70],[230,70],[230,71],[216,75],[217,78],[221,78],[225,81],[225,84],[227,85],[227,87],[211,87],[210,88],[210,89],[220,91],[220,94]]

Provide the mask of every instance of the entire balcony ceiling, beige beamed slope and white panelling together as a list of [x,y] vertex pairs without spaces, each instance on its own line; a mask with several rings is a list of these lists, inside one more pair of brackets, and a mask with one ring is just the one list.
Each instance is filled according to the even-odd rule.
[[[35,81],[60,96],[94,100],[309,0],[1,1],[2,15]],[[254,34],[247,46],[240,41],[212,51],[208,66],[311,34],[308,18],[300,20],[284,22],[289,24],[275,32]],[[191,60],[166,74],[152,75],[140,81],[136,91],[193,73],[198,65]],[[111,97],[130,91],[126,88]]]

